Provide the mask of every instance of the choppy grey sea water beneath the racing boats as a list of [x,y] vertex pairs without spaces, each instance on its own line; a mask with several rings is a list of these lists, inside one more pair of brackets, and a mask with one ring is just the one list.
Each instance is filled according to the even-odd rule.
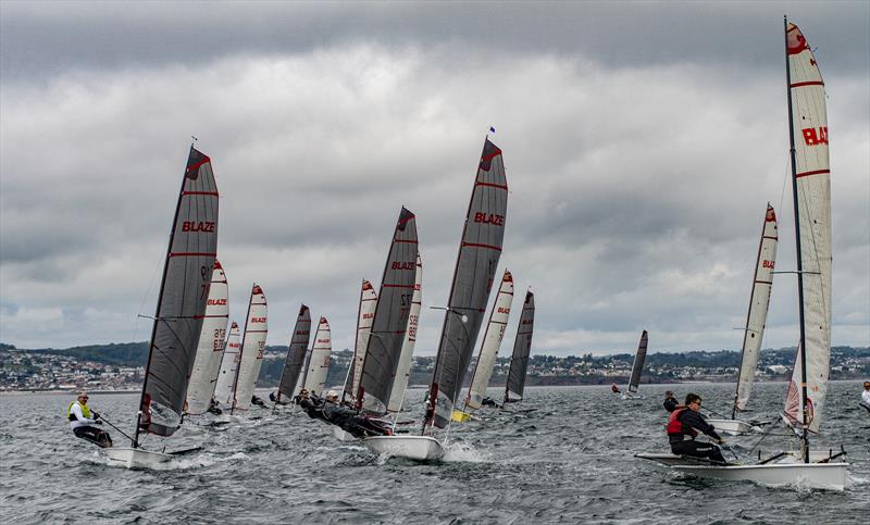
[[[327,425],[302,414],[261,411],[262,418],[220,429],[186,424],[169,449],[201,445],[206,452],[161,471],[107,465],[62,417],[71,398],[5,395],[0,515],[5,523],[866,523],[870,417],[857,408],[859,383],[831,385],[818,441],[849,453],[853,485],[842,492],[701,480],[633,458],[667,451],[666,388],[643,386],[645,399],[636,401],[614,399],[607,387],[530,388],[517,409],[537,410],[484,411],[486,421],[453,425],[439,464],[378,458],[335,441]],[[733,395],[732,385],[670,388],[678,397],[696,391],[720,410]],[[772,417],[785,385],[756,392],[753,405],[767,409],[753,415]],[[126,430],[137,401],[91,395],[90,404]],[[743,442],[748,449],[756,440]],[[786,441],[770,436],[762,445]]]

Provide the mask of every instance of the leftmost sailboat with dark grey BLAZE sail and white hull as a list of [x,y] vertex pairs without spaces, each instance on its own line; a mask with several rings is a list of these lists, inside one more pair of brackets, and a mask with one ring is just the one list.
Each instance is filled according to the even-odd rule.
[[206,315],[217,251],[217,186],[211,159],[192,146],[175,207],[154,325],[148,343],[136,432],[130,447],[103,449],[110,461],[150,467],[172,454],[142,448],[140,435],[169,437],[178,429]]

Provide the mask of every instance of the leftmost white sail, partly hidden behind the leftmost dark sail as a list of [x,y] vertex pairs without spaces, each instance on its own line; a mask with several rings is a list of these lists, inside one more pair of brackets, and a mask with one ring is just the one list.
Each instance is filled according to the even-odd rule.
[[217,370],[221,366],[221,357],[224,353],[226,323],[229,320],[227,293],[226,274],[224,274],[221,263],[215,260],[214,268],[211,272],[206,318],[202,321],[202,332],[199,335],[197,358],[194,361],[190,383],[187,385],[188,414],[203,414],[211,404]]

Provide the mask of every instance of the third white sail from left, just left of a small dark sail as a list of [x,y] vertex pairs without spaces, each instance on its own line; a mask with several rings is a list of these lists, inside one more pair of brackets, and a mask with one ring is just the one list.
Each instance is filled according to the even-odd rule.
[[260,377],[260,367],[263,365],[263,351],[265,338],[269,334],[266,321],[265,295],[262,288],[253,285],[251,299],[248,305],[248,318],[245,322],[245,333],[241,337],[241,361],[238,365],[238,378],[233,399],[233,412],[246,411],[251,407],[253,387]]

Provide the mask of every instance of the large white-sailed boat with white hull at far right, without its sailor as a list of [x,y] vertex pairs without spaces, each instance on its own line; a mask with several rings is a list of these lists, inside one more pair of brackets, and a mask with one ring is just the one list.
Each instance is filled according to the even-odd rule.
[[783,418],[800,450],[779,452],[751,464],[713,465],[671,454],[637,454],[700,477],[751,480],[765,485],[845,488],[845,451],[811,450],[819,432],[831,354],[831,168],[824,83],[798,27],[785,24],[788,138],[797,245],[800,339]]

